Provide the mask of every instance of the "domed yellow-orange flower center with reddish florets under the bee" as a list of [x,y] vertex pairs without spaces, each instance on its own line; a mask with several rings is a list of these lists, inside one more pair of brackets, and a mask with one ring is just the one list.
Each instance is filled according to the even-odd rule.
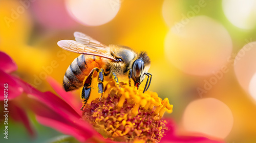
[[167,130],[164,112],[173,110],[167,98],[162,100],[157,93],[137,90],[114,82],[106,85],[101,100],[93,100],[84,108],[82,119],[90,122],[106,138],[115,141],[159,142]]

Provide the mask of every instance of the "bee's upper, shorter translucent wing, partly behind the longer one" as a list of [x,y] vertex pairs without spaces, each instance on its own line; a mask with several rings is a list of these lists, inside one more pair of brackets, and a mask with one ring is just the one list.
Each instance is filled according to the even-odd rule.
[[97,49],[109,49],[109,47],[106,46],[105,44],[102,44],[101,42],[81,32],[74,32],[74,36],[76,41],[81,44],[84,44],[90,47],[95,47]]

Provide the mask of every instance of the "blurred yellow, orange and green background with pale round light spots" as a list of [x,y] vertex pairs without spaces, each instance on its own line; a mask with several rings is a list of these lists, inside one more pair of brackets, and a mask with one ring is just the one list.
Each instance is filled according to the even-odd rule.
[[[62,84],[79,55],[57,41],[79,31],[107,45],[147,51],[150,90],[174,105],[166,116],[180,134],[256,142],[253,0],[0,0],[0,17],[0,50],[17,63],[14,74],[40,91],[53,91],[48,76]],[[37,136],[31,139],[23,125],[12,123],[8,141],[47,142],[61,135],[32,113],[30,118]]]

